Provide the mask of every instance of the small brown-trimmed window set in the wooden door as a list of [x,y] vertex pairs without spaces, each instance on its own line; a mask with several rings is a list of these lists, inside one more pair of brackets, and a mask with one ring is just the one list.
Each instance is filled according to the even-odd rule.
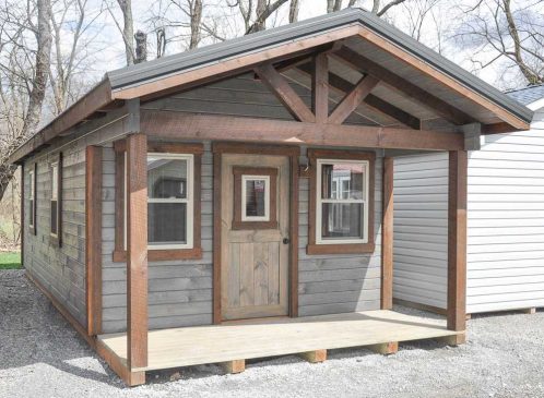
[[233,229],[274,229],[276,218],[277,169],[233,167]]

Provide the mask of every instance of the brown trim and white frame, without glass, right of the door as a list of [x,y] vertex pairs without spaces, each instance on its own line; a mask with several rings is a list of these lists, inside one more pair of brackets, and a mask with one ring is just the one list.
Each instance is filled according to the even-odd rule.
[[[372,253],[375,251],[375,237],[374,237],[374,191],[375,186],[375,164],[376,154],[374,152],[347,152],[338,149],[308,149],[308,160],[310,164],[310,192],[309,192],[309,214],[308,214],[308,245],[306,252],[309,255],[317,254],[357,254],[357,253]],[[321,201],[318,200],[319,181],[321,177],[318,176],[320,167],[318,165],[327,164],[330,161],[367,161],[367,180],[368,190],[366,193],[367,203],[365,213],[368,214],[367,222],[364,226],[366,230],[364,241],[344,240],[344,241],[328,241],[318,239],[318,231],[320,222],[318,222],[318,215],[321,212],[317,210]]]

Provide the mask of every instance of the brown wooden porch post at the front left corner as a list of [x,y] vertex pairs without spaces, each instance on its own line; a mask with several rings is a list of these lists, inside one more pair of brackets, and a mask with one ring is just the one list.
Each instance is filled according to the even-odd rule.
[[127,137],[127,363],[147,365],[147,138]]

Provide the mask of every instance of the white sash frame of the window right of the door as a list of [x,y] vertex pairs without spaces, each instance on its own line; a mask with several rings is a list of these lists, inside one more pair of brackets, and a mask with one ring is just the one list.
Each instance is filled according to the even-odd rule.
[[[344,198],[327,198],[321,197],[321,176],[323,165],[362,165],[364,172],[364,197],[362,200],[344,200]],[[317,159],[317,170],[316,170],[316,244],[360,244],[368,243],[368,195],[370,190],[370,162],[368,160],[347,160],[347,159]],[[336,196],[341,196],[342,189],[340,186],[341,181],[336,186]],[[363,239],[333,239],[323,238],[321,236],[322,227],[322,204],[323,203],[357,203],[363,204]]]

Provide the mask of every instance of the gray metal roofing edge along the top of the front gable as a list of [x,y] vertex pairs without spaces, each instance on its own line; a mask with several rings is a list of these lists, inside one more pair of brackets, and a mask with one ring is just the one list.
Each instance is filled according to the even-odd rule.
[[525,122],[532,119],[532,111],[513,98],[474,76],[469,71],[422,45],[375,14],[358,8],[317,16],[294,24],[284,25],[220,44],[159,58],[145,63],[122,68],[107,73],[111,88],[128,87],[142,82],[154,81],[167,75],[182,73],[204,64],[221,62],[240,53],[262,50],[280,44],[322,34],[342,26],[359,24],[385,37],[404,51],[431,64],[442,73],[456,79],[466,87],[499,105]]

